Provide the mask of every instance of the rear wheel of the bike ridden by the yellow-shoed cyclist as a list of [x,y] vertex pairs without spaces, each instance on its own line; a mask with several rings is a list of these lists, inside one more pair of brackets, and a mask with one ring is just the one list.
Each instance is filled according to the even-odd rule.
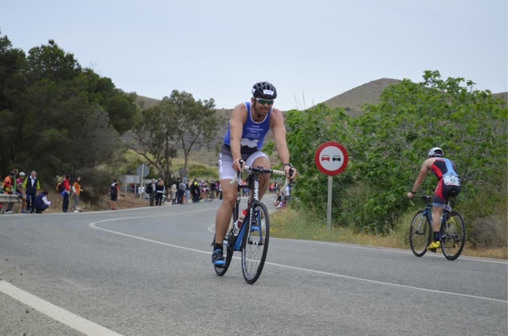
[[466,243],[466,225],[462,216],[452,211],[441,223],[441,250],[448,260],[455,260]]

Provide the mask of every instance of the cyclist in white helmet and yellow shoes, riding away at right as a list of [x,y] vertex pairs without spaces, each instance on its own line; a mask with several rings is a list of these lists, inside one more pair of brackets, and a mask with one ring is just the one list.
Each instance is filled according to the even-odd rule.
[[418,174],[415,185],[411,191],[407,193],[407,197],[413,198],[415,196],[429,171],[432,171],[438,180],[432,203],[432,229],[434,231],[434,241],[427,247],[428,250],[434,250],[441,247],[439,237],[441,215],[450,196],[457,195],[460,192],[460,178],[455,169],[455,163],[443,157],[442,149],[434,147],[429,151],[428,158],[423,161],[420,174]]

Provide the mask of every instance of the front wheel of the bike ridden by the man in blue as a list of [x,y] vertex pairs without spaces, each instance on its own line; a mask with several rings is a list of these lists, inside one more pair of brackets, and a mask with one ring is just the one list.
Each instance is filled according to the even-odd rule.
[[263,203],[256,203],[252,208],[252,216],[248,214],[248,225],[242,237],[242,272],[249,284],[255,283],[265,264],[270,238],[270,220],[268,209]]

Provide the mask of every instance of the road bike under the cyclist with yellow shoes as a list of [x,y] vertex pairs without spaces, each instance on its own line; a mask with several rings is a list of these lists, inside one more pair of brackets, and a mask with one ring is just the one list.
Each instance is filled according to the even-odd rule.
[[[416,213],[409,229],[409,244],[417,257],[421,257],[427,252],[427,246],[430,245],[434,234],[432,230],[433,196],[421,195],[421,197],[426,202],[425,209]],[[448,260],[457,259],[466,242],[466,226],[462,215],[457,211],[452,211],[449,202],[443,211],[439,236],[444,256]],[[431,251],[436,252],[436,249]]]

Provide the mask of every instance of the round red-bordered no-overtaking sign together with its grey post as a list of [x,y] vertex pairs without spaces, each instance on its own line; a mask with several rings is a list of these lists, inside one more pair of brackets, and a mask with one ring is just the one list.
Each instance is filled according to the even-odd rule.
[[328,202],[326,227],[332,227],[332,186],[333,176],[341,173],[347,165],[347,151],[338,142],[328,141],[317,148],[314,161],[317,169],[328,175]]

